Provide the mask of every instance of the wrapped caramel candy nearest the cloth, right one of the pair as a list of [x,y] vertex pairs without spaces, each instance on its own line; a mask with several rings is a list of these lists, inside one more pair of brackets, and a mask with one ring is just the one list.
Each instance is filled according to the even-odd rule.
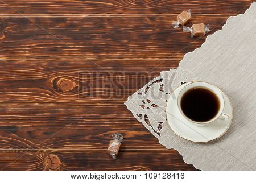
[[210,29],[209,24],[205,25],[204,23],[199,23],[193,24],[191,28],[183,26],[183,31],[191,32],[191,36],[193,38],[194,36],[204,36],[210,31]]

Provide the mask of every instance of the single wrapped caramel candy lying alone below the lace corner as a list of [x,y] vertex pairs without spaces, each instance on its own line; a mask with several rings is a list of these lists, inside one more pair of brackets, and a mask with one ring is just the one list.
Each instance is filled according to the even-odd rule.
[[121,142],[123,141],[123,135],[120,133],[115,133],[112,135],[113,140],[110,140],[108,153],[113,159],[117,159],[119,148],[121,147]]

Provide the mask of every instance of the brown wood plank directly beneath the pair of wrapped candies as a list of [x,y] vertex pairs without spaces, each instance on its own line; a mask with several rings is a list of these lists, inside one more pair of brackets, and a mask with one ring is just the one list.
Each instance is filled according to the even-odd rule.
[[[193,16],[211,34],[229,15]],[[1,56],[184,56],[205,42],[171,26],[175,16],[1,18]]]

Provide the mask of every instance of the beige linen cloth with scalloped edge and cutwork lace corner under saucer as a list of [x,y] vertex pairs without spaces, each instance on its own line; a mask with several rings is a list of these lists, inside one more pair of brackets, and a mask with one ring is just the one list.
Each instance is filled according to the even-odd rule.
[[[187,36],[187,35],[184,35]],[[138,121],[166,148],[202,170],[256,169],[256,3],[232,16],[201,48],[189,52],[177,69],[163,71],[125,102]],[[233,105],[227,133],[209,143],[177,136],[166,121],[166,101],[181,82],[201,80],[220,87]],[[157,154],[156,154],[157,155]],[[164,163],[164,161],[163,161]]]

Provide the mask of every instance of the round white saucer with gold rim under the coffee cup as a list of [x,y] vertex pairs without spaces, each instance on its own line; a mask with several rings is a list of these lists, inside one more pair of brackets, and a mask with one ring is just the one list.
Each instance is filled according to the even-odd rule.
[[171,129],[180,137],[191,142],[209,142],[224,135],[229,129],[233,118],[233,110],[229,98],[222,92],[225,103],[224,112],[230,115],[227,121],[217,119],[217,121],[207,125],[196,126],[181,115],[177,106],[177,96],[180,90],[187,84],[183,84],[174,90],[167,101],[166,115]]

